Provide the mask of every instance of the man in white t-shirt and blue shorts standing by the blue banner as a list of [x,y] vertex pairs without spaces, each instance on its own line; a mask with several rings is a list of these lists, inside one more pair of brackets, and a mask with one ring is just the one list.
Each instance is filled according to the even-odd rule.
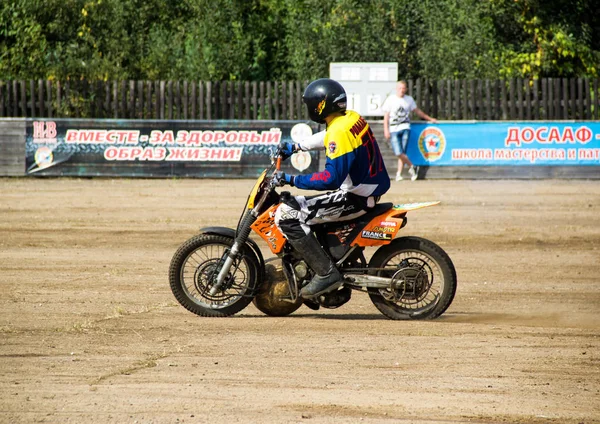
[[387,139],[391,139],[392,149],[398,157],[398,172],[396,181],[402,180],[402,168],[406,164],[411,180],[417,179],[417,171],[412,162],[406,155],[408,147],[408,136],[410,135],[410,113],[415,112],[426,121],[437,123],[437,120],[427,115],[417,107],[415,99],[406,94],[406,81],[398,81],[396,85],[396,94],[392,94],[385,99],[381,110],[383,115],[383,134]]

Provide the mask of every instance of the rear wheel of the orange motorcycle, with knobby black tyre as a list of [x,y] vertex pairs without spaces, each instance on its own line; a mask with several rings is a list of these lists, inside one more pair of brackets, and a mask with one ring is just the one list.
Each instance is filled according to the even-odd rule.
[[[456,270],[444,250],[432,241],[402,237],[377,250],[370,273],[392,278],[391,288],[369,288],[369,297],[386,317],[433,319],[443,314],[456,293]],[[382,269],[384,268],[384,269]]]

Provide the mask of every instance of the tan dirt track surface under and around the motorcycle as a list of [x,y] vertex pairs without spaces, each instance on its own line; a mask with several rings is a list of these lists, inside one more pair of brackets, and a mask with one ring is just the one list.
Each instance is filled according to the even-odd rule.
[[363,293],[197,317],[171,256],[235,226],[252,184],[0,179],[0,422],[600,422],[597,181],[394,183],[384,200],[442,201],[402,230],[456,266],[437,320]]

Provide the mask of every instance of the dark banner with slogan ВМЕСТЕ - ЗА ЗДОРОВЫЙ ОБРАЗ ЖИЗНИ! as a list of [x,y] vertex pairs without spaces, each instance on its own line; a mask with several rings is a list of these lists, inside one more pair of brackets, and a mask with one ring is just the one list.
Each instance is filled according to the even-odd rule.
[[[30,119],[26,173],[44,176],[255,177],[280,141],[317,130],[297,121]],[[316,172],[319,152],[282,169]]]

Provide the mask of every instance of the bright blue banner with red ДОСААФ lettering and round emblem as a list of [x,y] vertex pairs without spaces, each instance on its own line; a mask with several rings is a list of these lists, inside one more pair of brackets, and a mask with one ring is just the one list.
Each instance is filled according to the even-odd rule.
[[414,123],[418,166],[600,165],[600,122]]

